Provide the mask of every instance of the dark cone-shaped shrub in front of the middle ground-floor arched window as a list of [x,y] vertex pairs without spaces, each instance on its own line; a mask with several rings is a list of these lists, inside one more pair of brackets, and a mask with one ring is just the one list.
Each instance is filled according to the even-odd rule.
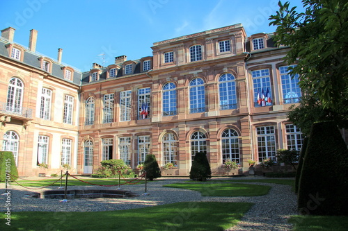
[[196,153],[191,166],[190,179],[205,181],[210,178],[212,178],[212,170],[210,169],[210,166],[209,166],[207,153],[205,152]]

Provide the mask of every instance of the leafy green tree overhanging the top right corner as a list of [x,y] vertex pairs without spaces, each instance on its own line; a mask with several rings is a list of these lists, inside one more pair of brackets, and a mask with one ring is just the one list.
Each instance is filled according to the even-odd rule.
[[305,12],[279,1],[271,15],[275,40],[291,49],[285,56],[299,74],[303,92],[315,95],[324,108],[348,112],[348,1],[303,0]]

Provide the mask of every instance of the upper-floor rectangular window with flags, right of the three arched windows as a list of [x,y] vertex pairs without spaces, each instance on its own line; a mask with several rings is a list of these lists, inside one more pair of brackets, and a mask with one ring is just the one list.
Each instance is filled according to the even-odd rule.
[[269,69],[252,71],[255,107],[272,105]]

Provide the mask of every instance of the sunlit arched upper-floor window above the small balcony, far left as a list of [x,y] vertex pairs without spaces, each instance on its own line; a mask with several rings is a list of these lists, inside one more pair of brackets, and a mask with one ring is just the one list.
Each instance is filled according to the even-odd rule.
[[8,85],[6,111],[22,113],[24,85],[19,78],[11,78]]

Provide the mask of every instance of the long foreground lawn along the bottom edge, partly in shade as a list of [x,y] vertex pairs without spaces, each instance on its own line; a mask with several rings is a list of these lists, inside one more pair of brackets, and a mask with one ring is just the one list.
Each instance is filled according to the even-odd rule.
[[0,230],[226,230],[252,203],[184,202],[107,212],[13,212]]

